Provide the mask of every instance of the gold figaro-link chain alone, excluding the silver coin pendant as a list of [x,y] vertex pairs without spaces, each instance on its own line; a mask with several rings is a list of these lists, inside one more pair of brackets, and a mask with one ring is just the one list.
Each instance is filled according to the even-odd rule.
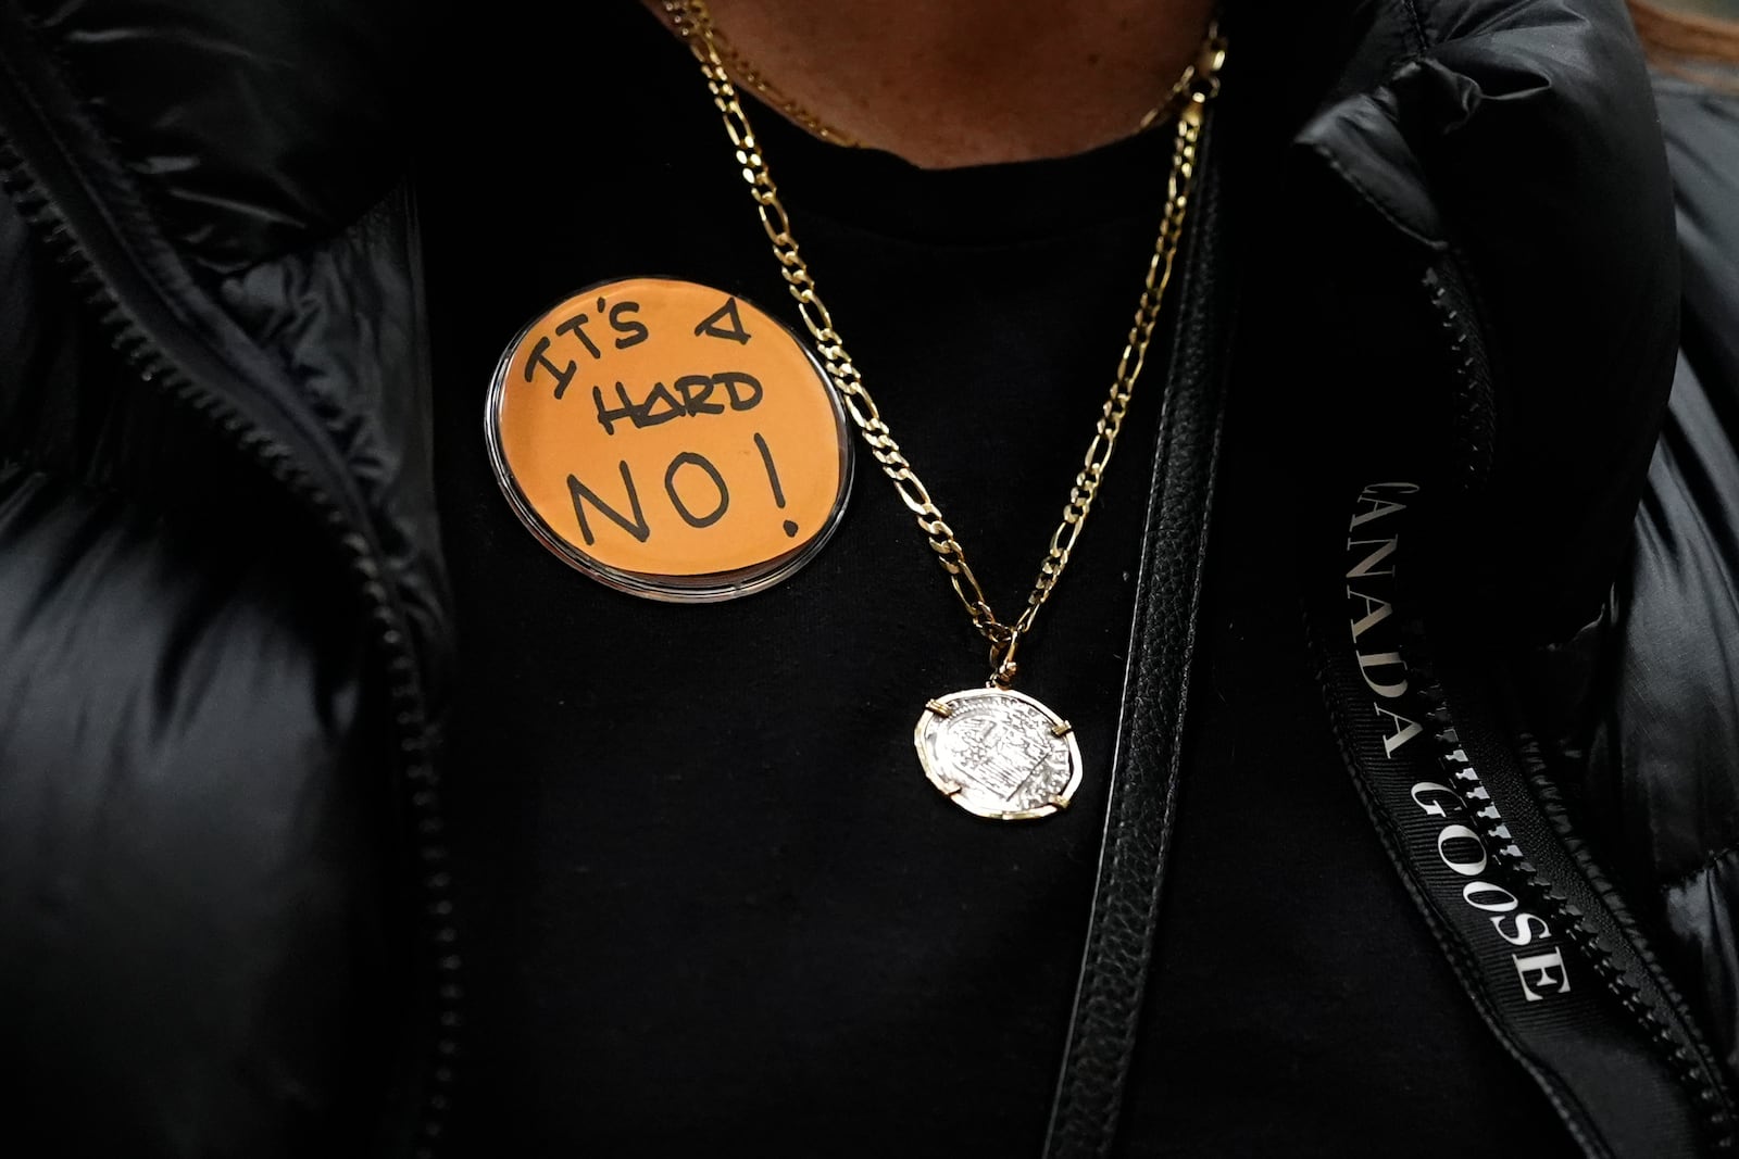
[[953,528],[948,527],[941,509],[930,497],[930,490],[911,469],[911,462],[901,452],[887,421],[882,419],[882,410],[876,407],[875,398],[864,387],[857,365],[845,353],[845,344],[833,327],[833,315],[821,301],[816,278],[798,252],[796,238],[791,235],[791,221],[779,200],[779,188],[774,184],[767,160],[762,156],[755,130],[750,127],[748,115],[737,101],[737,90],[730,83],[730,73],[713,36],[713,21],[706,2],[663,0],[663,5],[671,24],[701,63],[706,85],[713,94],[713,104],[723,116],[725,132],[736,148],[743,181],[755,200],[755,209],[762,228],[767,231],[767,240],[772,243],[779,271],[784,275],[791,297],[796,299],[803,325],[816,341],[816,353],[821,356],[828,375],[842,394],[845,412],[863,434],[870,454],[875,455],[883,474],[892,480],[901,500],[916,516],[918,527],[929,539],[930,551],[936,553],[955,594],[960,596],[962,606],[972,617],[972,626],[989,641],[991,683],[1007,688],[1016,674],[1014,653],[1021,643],[1021,636],[1031,629],[1038,610],[1063,577],[1063,570],[1069,563],[1069,554],[1075,551],[1075,542],[1087,523],[1087,514],[1092,511],[1092,502],[1099,493],[1106,466],[1111,462],[1111,452],[1116,447],[1116,436],[1123,427],[1123,415],[1129,412],[1136,379],[1146,363],[1153,328],[1160,320],[1165,287],[1170,283],[1177,243],[1183,236],[1184,212],[1189,203],[1189,186],[1195,177],[1196,144],[1202,137],[1203,113],[1207,103],[1219,92],[1219,70],[1226,59],[1226,42],[1221,38],[1217,24],[1209,28],[1195,64],[1184,70],[1184,75],[1174,87],[1177,130],[1172,146],[1170,174],[1165,182],[1165,210],[1160,217],[1160,233],[1155,240],[1153,254],[1148,259],[1141,299],[1136,302],[1136,316],[1130,321],[1123,353],[1116,361],[1111,391],[1099,408],[1099,419],[1094,424],[1092,441],[1087,445],[1087,454],[1082,459],[1082,469],[1075,476],[1069,499],[1063,507],[1063,521],[1050,533],[1050,544],[1040,563],[1038,577],[1033,580],[1033,589],[1028,593],[1026,606],[1009,624],[1000,620],[991,610],[977,575],[972,573],[972,565],[967,563],[965,547],[960,546]]

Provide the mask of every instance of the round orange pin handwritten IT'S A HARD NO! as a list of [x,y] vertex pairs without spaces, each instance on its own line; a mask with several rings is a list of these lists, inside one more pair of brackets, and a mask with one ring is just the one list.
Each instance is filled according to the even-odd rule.
[[574,294],[501,356],[485,417],[513,511],[596,580],[730,599],[828,540],[852,483],[838,391],[753,302],[624,278]]

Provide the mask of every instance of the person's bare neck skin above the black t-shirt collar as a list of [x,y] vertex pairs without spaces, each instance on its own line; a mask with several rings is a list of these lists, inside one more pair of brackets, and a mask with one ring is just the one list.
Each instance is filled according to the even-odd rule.
[[1129,136],[1195,61],[1214,0],[708,7],[737,52],[807,113],[943,169],[1066,156]]

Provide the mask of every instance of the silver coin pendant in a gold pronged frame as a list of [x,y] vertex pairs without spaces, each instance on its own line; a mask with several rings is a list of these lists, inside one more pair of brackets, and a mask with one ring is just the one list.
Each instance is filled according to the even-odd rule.
[[1012,688],[991,685],[930,700],[913,740],[930,784],[991,820],[1059,813],[1082,784],[1075,728]]

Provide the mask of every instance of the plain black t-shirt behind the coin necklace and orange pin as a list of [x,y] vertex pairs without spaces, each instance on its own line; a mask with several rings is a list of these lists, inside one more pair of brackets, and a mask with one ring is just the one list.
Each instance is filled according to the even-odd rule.
[[[456,1150],[1036,1154],[1104,824],[1163,344],[1023,645],[1019,686],[1075,723],[1085,782],[1043,822],[974,818],[925,782],[911,730],[929,697],[983,683],[984,646],[868,455],[823,553],[722,605],[605,589],[503,499],[483,393],[548,302],[657,273],[795,323],[689,52],[631,2],[551,43],[485,54],[497,70],[464,82],[478,136],[456,129],[423,169],[461,666]],[[937,172],[750,111],[866,384],[1016,612],[1129,330],[1167,136]],[[1337,763],[1271,553],[1285,481],[1261,443],[1280,433],[1233,434],[1127,1154],[1570,1154]]]

